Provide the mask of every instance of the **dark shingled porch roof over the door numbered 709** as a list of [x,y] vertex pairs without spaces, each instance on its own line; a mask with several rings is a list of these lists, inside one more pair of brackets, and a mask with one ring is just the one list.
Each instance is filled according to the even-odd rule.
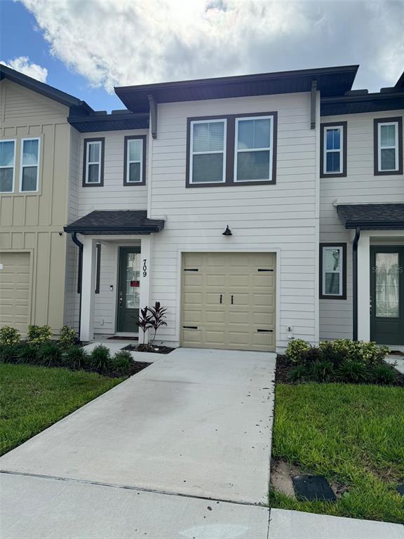
[[147,218],[146,210],[95,210],[65,227],[65,232],[99,234],[151,234],[164,228],[163,219]]

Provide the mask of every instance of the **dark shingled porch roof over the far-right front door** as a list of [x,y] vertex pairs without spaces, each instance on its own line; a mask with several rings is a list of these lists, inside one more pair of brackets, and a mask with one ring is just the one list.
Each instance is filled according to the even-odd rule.
[[345,228],[403,230],[404,204],[337,204]]

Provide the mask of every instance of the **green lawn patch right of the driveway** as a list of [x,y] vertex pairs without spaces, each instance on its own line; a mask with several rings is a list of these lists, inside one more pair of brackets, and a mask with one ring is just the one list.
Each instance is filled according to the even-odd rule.
[[404,390],[375,385],[278,385],[272,453],[348,486],[335,504],[271,491],[269,505],[404,523]]

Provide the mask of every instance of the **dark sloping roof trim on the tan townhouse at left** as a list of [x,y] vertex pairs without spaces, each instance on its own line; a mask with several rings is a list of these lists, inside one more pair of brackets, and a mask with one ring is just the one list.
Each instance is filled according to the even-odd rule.
[[37,81],[36,79],[32,79],[31,76],[22,74],[3,64],[0,64],[0,80],[1,79],[8,79],[16,84],[25,86],[25,88],[40,93],[46,98],[62,103],[62,105],[66,105],[66,107],[74,107],[77,109],[77,112],[82,112],[82,114],[94,112],[90,105],[87,105],[85,101],[75,98],[74,95],[62,92],[57,88],[53,88],[53,86],[49,86],[48,84]]

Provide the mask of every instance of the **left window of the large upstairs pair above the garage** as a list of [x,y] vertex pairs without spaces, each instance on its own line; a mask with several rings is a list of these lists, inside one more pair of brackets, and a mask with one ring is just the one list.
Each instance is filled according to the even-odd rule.
[[226,119],[191,121],[189,183],[226,181]]

